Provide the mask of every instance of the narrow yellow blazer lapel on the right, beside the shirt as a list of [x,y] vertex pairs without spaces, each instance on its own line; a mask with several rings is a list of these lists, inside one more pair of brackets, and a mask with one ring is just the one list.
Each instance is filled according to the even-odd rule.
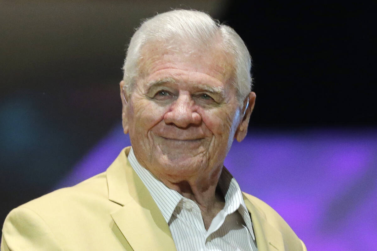
[[282,234],[267,222],[266,216],[258,210],[244,194],[245,205],[251,216],[258,251],[284,251]]

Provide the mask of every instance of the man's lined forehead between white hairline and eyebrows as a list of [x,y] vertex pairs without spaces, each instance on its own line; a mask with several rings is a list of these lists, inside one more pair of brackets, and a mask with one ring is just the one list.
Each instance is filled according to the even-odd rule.
[[167,70],[181,70],[191,75],[207,75],[222,84],[230,84],[234,76],[233,61],[233,57],[218,44],[192,48],[183,43],[166,48],[150,43],[141,49],[138,75],[146,79]]

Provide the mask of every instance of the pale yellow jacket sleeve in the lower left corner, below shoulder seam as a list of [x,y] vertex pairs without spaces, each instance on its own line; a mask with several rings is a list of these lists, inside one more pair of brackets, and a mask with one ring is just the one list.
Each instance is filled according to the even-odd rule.
[[12,210],[5,219],[1,251],[60,251],[57,237],[47,223],[26,207]]

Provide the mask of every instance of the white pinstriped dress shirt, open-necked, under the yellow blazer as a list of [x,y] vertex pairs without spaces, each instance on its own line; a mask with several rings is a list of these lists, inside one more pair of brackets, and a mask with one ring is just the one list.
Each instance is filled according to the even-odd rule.
[[166,187],[137,161],[131,148],[128,160],[146,185],[162,216],[169,225],[177,251],[257,251],[250,214],[241,189],[226,168],[219,188],[225,194],[225,206],[205,230],[198,205]]

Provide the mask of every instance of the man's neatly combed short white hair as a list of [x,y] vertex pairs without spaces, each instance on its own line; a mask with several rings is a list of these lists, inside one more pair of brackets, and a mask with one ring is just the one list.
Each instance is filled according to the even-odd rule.
[[245,43],[229,26],[219,24],[219,21],[210,15],[195,10],[173,10],[143,21],[131,38],[124,60],[123,80],[126,93],[132,92],[139,73],[141,49],[146,43],[163,41],[164,43],[159,44],[170,49],[184,41],[199,49],[213,44],[219,38],[221,49],[233,57],[233,85],[242,104],[252,86],[251,57]]

